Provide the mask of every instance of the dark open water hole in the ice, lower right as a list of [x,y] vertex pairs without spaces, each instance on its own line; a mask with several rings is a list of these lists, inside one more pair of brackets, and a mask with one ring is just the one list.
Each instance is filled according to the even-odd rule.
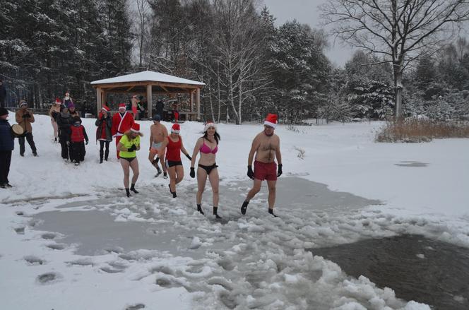
[[405,234],[313,249],[356,278],[434,309],[469,309],[469,249]]

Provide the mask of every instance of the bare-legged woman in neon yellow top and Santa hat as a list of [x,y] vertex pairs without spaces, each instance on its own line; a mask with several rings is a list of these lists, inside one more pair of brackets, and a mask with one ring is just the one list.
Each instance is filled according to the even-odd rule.
[[[121,161],[122,170],[124,171],[124,188],[126,189],[127,197],[130,197],[130,191],[138,193],[135,189],[135,183],[138,179],[138,159],[136,150],[140,150],[140,137],[143,133],[140,131],[140,124],[133,123],[131,129],[121,136],[117,150]],[[132,183],[129,189],[130,169],[132,169]]]

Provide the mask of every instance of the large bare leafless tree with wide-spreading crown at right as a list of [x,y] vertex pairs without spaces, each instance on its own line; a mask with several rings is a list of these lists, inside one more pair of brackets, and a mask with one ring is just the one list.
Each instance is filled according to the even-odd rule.
[[403,71],[421,52],[456,34],[469,18],[467,0],[328,0],[321,6],[325,25],[353,47],[393,66],[396,117],[402,114]]

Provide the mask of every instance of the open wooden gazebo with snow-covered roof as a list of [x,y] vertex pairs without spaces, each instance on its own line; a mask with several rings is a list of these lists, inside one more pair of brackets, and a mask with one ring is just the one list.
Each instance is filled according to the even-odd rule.
[[190,112],[180,112],[180,114],[186,114],[187,119],[191,120],[201,119],[201,88],[205,83],[154,71],[142,71],[127,74],[126,76],[93,81],[91,85],[96,88],[97,112],[102,108],[102,103],[107,101],[107,94],[130,93],[146,96],[148,117],[151,117],[153,115],[153,94],[177,95],[184,93],[189,95],[191,109]]

